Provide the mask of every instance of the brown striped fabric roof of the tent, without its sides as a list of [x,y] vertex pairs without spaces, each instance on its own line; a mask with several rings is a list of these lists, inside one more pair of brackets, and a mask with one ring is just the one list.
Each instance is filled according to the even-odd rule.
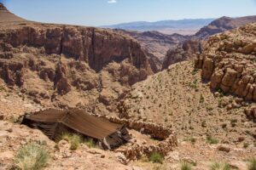
[[27,119],[35,122],[61,122],[79,133],[100,140],[123,127],[123,125],[107,122],[96,116],[90,116],[80,110],[60,111],[50,109],[39,111],[27,117]]

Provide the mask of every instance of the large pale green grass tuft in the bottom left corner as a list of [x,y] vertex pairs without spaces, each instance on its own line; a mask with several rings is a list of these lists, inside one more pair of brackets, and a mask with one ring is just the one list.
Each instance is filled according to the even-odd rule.
[[22,170],[38,170],[46,167],[49,153],[45,145],[28,143],[21,145],[15,156],[15,167]]

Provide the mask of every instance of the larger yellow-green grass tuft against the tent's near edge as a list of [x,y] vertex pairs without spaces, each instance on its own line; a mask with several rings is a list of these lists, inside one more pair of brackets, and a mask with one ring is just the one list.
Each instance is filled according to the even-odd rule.
[[77,150],[80,143],[82,143],[81,137],[75,133],[64,133],[61,136],[61,139],[67,140],[67,142],[70,144],[70,150]]

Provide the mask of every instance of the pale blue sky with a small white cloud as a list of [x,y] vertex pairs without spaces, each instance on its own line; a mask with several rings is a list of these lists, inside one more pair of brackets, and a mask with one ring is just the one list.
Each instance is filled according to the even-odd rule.
[[9,11],[48,23],[108,26],[157,21],[256,15],[256,0],[0,0]]

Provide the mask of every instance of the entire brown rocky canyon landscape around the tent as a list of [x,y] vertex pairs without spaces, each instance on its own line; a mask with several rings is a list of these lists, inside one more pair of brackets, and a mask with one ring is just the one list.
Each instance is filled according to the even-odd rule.
[[[213,20],[194,36],[47,24],[0,3],[0,169],[44,143],[45,169],[247,169],[256,157],[255,16]],[[78,108],[124,124],[117,150],[48,139],[20,124],[47,108]],[[161,163],[148,161],[153,151]]]

